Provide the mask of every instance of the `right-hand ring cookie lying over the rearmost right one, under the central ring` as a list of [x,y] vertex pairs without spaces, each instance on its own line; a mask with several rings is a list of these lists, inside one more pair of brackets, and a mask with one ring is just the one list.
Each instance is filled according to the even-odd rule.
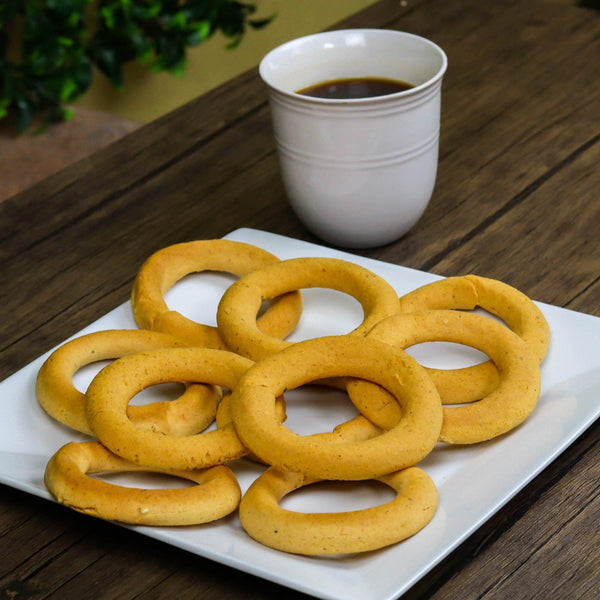
[[[498,321],[476,313],[431,310],[405,313],[378,323],[367,336],[398,348],[431,341],[464,344],[487,354],[500,373],[500,383],[483,399],[444,406],[440,441],[474,444],[506,433],[534,409],[540,393],[538,357],[530,346]],[[352,381],[348,394],[373,423],[388,429],[403,409],[390,394],[366,381]]]

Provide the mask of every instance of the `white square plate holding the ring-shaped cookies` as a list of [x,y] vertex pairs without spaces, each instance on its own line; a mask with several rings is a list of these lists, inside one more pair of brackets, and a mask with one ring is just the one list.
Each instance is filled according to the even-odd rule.
[[[413,269],[251,229],[236,230],[227,238],[260,246],[281,259],[332,256],[351,260],[384,277],[399,294],[437,279]],[[214,325],[218,300],[230,282],[224,275],[191,275],[167,293],[167,301],[171,308]],[[358,303],[338,292],[305,290],[304,299],[301,323],[290,339],[345,333],[362,319]],[[498,511],[600,414],[600,319],[549,305],[540,304],[540,308],[550,324],[552,341],[542,366],[542,393],[536,410],[507,436],[473,447],[440,446],[420,463],[437,484],[440,503],[431,523],[412,538],[364,555],[310,558],[254,542],[235,515],[198,527],[133,529],[318,598],[398,597]],[[135,328],[128,303],[78,335],[109,328]],[[415,347],[415,352],[422,353],[418,358],[426,364],[457,366],[450,353],[427,356],[423,347]],[[52,500],[43,483],[46,462],[61,445],[84,436],[52,421],[37,404],[35,378],[48,354],[0,383],[0,482]],[[77,387],[83,389],[93,374],[93,369],[77,374]],[[319,407],[300,392],[295,394],[300,395],[292,399],[287,424],[298,433],[314,431],[314,423],[326,430],[355,414],[349,402],[335,397],[339,392],[331,392],[333,396]],[[238,461],[234,470],[242,490],[260,472],[257,465],[247,461]],[[380,494],[387,499],[387,490],[379,488],[367,486],[354,497],[352,493],[341,494],[333,486],[313,496],[301,490],[284,502],[292,510],[349,510],[378,503],[383,497]]]

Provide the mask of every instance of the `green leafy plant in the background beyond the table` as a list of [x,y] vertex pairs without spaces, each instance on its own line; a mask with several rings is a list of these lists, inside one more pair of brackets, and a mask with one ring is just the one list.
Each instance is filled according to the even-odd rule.
[[0,3],[0,119],[22,132],[71,115],[66,104],[89,87],[94,68],[118,88],[123,65],[181,75],[186,51],[221,31],[235,47],[256,5],[235,0],[4,0]]

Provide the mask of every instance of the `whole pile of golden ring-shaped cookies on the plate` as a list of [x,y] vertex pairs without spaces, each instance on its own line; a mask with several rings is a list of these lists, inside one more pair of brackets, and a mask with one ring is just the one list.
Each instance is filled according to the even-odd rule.
[[[237,277],[215,307],[216,327],[164,299],[177,281],[204,271]],[[301,291],[314,287],[352,296],[364,318],[343,335],[291,342]],[[190,526],[238,511],[255,541],[313,556],[383,548],[425,527],[439,499],[421,461],[440,444],[488,441],[527,419],[550,340],[536,304],[500,281],[450,277],[399,297],[349,261],[279,260],[229,240],[176,244],[150,256],[135,279],[131,308],[139,329],[74,338],[38,373],[40,406],[87,436],[51,457],[49,491],[74,510],[130,524]],[[432,341],[470,346],[489,360],[432,369],[406,352]],[[110,362],[78,391],[73,375],[97,361]],[[166,383],[181,385],[182,394],[132,403]],[[285,425],[285,394],[314,383],[342,389],[358,415],[330,432],[294,433]],[[262,473],[242,491],[231,467],[248,459]],[[113,471],[167,474],[194,485],[130,488],[91,477]],[[394,499],[334,513],[280,506],[316,482],[368,480],[391,487]]]

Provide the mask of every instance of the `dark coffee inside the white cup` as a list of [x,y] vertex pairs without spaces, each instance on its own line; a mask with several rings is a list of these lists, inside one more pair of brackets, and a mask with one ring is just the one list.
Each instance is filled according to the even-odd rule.
[[413,85],[396,79],[380,77],[356,77],[354,79],[335,79],[323,81],[298,90],[298,94],[313,98],[331,100],[351,100],[354,98],[374,98],[410,90]]

